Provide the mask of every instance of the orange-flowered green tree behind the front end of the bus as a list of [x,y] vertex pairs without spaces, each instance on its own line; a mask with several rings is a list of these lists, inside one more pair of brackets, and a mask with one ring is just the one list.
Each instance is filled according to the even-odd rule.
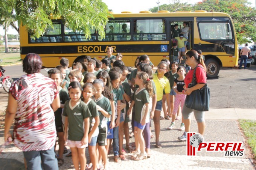
[[[225,12],[233,20],[239,44],[256,41],[256,10],[247,0],[203,0],[194,5],[194,10]],[[250,38],[250,39],[248,39]]]

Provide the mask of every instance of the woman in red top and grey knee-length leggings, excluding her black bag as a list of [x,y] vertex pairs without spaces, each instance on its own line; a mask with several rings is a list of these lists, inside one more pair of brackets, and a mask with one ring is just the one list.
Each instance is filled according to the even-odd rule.
[[[206,66],[204,65],[203,58],[200,55],[198,55],[197,51],[195,50],[190,50],[186,53],[186,63],[187,65],[191,66],[191,69],[184,79],[186,86],[184,87],[184,93],[186,95],[190,95],[190,93],[192,93],[194,90],[201,89],[206,84]],[[195,68],[197,84],[193,87],[188,88],[189,83],[192,83]],[[186,105],[184,105],[182,109],[182,116],[184,118],[185,132],[183,133],[183,135],[178,137],[179,140],[185,141],[187,139],[187,132],[190,131],[191,123],[189,116],[192,112],[194,112],[195,119],[197,120],[198,132],[202,135],[204,134],[204,111],[198,111],[191,108],[187,108]]]

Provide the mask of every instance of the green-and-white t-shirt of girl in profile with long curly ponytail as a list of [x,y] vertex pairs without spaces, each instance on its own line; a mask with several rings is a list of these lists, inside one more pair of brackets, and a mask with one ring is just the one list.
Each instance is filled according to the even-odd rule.
[[[141,123],[146,110],[146,103],[149,103],[149,93],[143,88],[139,91],[139,88],[133,93],[133,101],[135,102],[135,117],[136,122]],[[146,117],[146,123],[149,122],[149,116]]]

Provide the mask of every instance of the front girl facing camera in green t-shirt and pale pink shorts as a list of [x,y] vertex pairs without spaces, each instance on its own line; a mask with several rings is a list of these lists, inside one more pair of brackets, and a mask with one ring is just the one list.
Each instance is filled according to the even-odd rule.
[[[88,133],[91,113],[87,105],[81,101],[81,84],[72,81],[69,84],[70,100],[65,102],[63,116],[65,117],[64,140],[72,152],[72,161],[75,169],[85,169],[85,147],[88,146]],[[69,133],[69,136],[67,134]]]

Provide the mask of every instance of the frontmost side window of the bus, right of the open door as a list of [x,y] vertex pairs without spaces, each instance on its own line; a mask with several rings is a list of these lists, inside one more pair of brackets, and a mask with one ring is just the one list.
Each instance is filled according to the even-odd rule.
[[233,39],[229,23],[199,23],[201,39]]

